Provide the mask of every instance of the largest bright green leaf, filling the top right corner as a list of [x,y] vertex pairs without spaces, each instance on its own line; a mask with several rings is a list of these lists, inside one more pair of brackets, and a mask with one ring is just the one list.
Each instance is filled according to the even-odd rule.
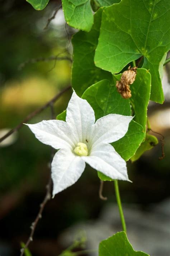
[[151,100],[159,103],[164,101],[159,71],[170,48],[169,9],[169,0],[122,0],[105,8],[95,53],[96,66],[112,73],[144,56],[143,68],[152,77]]

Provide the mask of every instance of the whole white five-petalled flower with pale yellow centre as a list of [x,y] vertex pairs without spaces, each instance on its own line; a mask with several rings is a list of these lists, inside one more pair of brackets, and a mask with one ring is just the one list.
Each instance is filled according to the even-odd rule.
[[73,92],[66,122],[27,124],[38,140],[59,149],[52,161],[53,196],[80,178],[85,162],[112,179],[128,180],[126,162],[109,143],[126,134],[132,118],[108,114],[95,122],[93,108]]

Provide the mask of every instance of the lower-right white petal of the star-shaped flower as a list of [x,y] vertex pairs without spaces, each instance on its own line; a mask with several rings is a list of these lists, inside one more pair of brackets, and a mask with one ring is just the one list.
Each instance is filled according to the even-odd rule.
[[126,162],[110,144],[100,143],[92,149],[90,156],[82,158],[91,167],[114,180],[129,180]]

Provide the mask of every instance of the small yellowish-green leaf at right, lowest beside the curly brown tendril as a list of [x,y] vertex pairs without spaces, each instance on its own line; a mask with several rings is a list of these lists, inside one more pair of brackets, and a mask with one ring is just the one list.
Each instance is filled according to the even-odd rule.
[[154,135],[146,134],[145,141],[137,149],[134,156],[131,157],[131,161],[134,162],[138,160],[145,151],[152,149],[157,144],[158,144],[158,140]]

